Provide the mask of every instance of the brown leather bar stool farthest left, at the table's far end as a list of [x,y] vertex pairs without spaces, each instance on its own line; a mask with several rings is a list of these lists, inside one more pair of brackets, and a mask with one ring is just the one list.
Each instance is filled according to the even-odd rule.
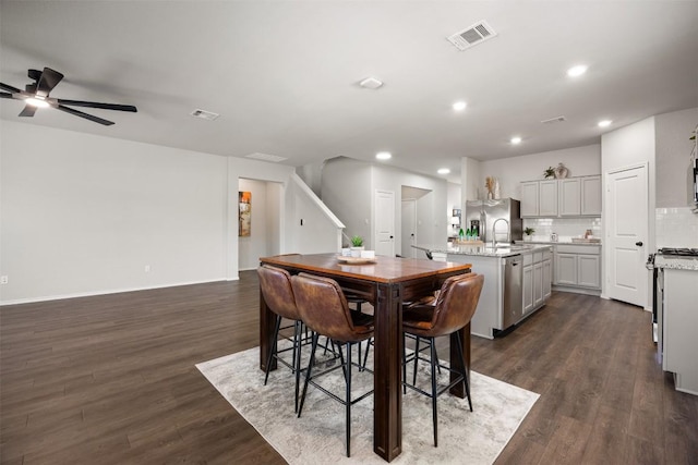
[[[274,342],[272,343],[272,351],[266,360],[266,370],[264,374],[264,384],[266,386],[269,379],[269,367],[272,365],[272,358],[276,358],[277,362],[288,366],[293,375],[296,375],[296,400],[294,412],[298,412],[298,392],[300,387],[300,364],[301,364],[301,345],[302,345],[302,321],[301,315],[298,311],[296,305],[296,298],[293,296],[293,289],[291,287],[291,276],[288,271],[272,267],[269,265],[262,265],[257,268],[257,274],[260,277],[260,289],[264,296],[267,307],[276,314],[276,326],[274,328]],[[279,357],[278,351],[278,338],[279,330],[281,328],[281,320],[286,318],[293,321],[293,344],[290,348],[284,348],[280,352],[292,352],[292,362],[289,364],[284,358]]]

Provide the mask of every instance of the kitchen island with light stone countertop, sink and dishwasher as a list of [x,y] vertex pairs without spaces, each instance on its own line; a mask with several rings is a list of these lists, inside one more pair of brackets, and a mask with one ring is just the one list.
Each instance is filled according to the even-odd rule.
[[437,261],[472,264],[484,285],[472,317],[472,334],[493,339],[545,305],[551,294],[550,245],[418,245]]

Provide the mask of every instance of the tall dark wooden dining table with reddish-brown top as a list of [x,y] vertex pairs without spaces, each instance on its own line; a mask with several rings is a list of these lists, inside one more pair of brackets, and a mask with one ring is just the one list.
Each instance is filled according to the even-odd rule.
[[[337,254],[277,255],[261,258],[261,264],[284,268],[291,274],[308,272],[328,277],[351,294],[365,298],[374,307],[374,417],[373,451],[390,462],[402,450],[402,311],[404,302],[423,297],[441,287],[446,278],[469,272],[469,264],[432,261],[416,258],[376,256],[354,260]],[[266,369],[272,351],[276,317],[260,292],[260,368]],[[470,367],[470,325],[460,331],[466,369]],[[456,333],[450,336],[450,359],[457,367]],[[270,369],[276,369],[273,358]],[[450,392],[465,396],[462,383]]]

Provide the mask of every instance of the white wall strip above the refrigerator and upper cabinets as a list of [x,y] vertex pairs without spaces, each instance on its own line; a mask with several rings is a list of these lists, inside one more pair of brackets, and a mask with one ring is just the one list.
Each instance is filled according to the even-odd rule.
[[[494,176],[500,180],[502,197],[521,198],[520,183],[544,179],[549,167],[564,163],[569,176],[586,176],[601,173],[601,146],[598,144],[562,150],[544,151],[498,160],[480,162],[480,193],[485,193],[484,179]],[[469,199],[474,199],[469,198]]]

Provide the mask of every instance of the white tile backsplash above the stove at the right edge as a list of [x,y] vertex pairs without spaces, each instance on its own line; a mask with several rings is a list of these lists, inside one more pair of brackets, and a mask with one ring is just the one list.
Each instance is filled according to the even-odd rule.
[[688,207],[657,208],[654,228],[657,248],[698,248],[698,213]]

